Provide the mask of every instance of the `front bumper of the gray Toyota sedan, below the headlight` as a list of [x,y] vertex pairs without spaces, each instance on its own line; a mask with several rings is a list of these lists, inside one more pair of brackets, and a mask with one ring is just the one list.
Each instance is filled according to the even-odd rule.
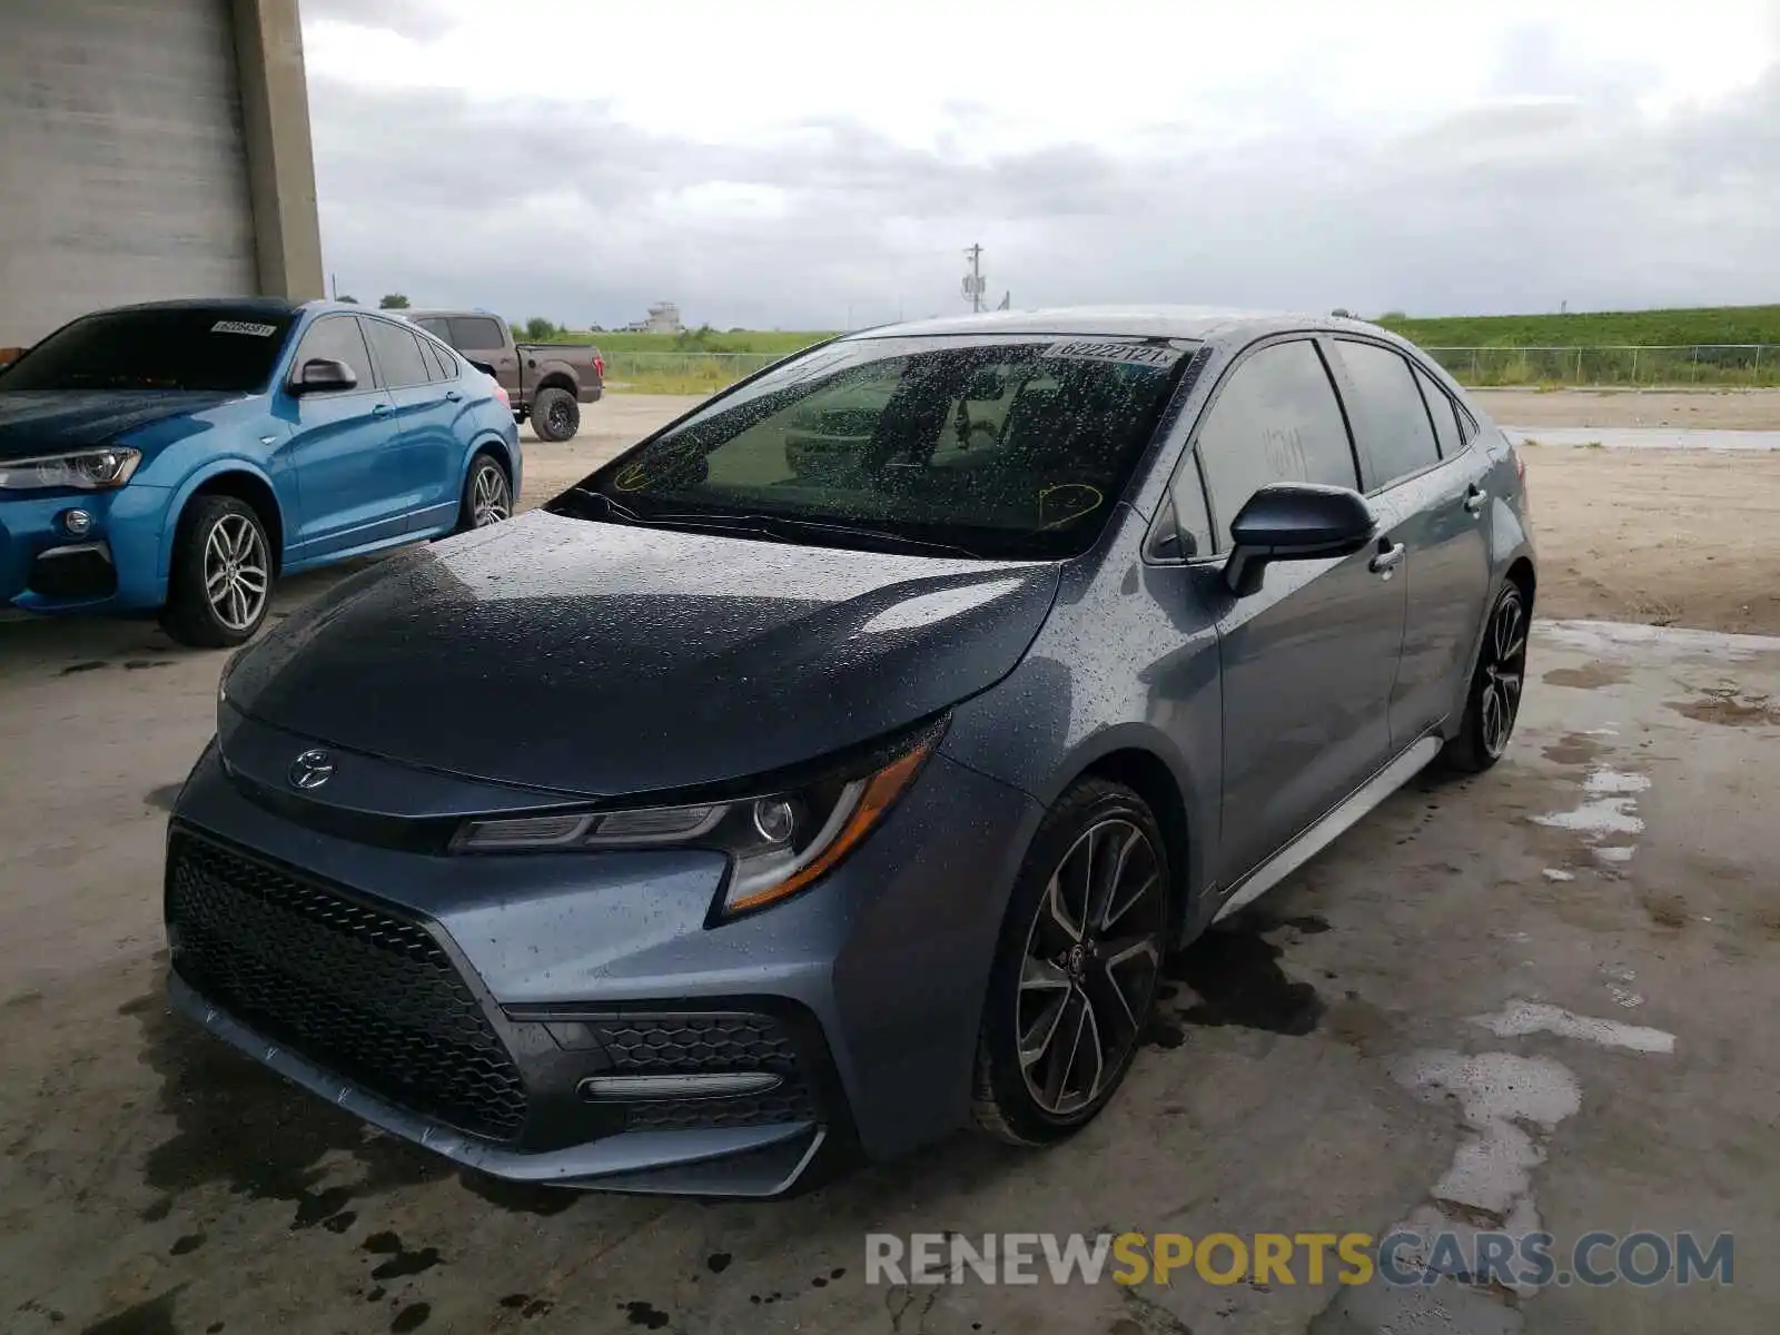
[[[436,790],[427,796],[450,805]],[[349,1043],[297,1024],[328,1009],[290,990],[304,972],[310,929],[301,924],[279,920],[265,933],[278,951],[249,952],[247,965],[279,970],[276,986],[262,986],[251,1004],[237,1000],[249,995],[244,975],[201,965],[192,951],[192,910],[178,902],[174,862],[169,986],[182,1011],[255,1059],[481,1171],[600,1189],[769,1196],[831,1153],[890,1157],[965,1121],[1011,853],[1036,817],[1024,794],[934,758],[828,881],[710,927],[723,878],[716,854],[440,856],[390,847],[383,831],[365,842],[363,829],[344,835],[338,821],[310,821],[269,801],[253,778],[224,773],[212,748],[180,797],[169,856],[183,865],[182,840],[198,840],[265,869],[271,879],[253,885],[262,908],[320,886],[349,913],[379,915],[370,934],[425,933],[404,949],[427,954],[436,945],[477,1013],[449,1027],[413,1015],[397,1022],[427,1031],[422,1056],[434,1064],[438,1041],[459,1041],[466,1024],[484,1025],[498,1041],[497,1066],[509,1061],[516,1073],[523,1114],[484,1118],[461,1100],[445,1107],[449,1098],[417,1095],[392,1075],[413,1070],[404,1064],[411,1045],[358,1041],[392,1006],[400,1009],[393,999],[424,988],[352,983],[351,959],[317,963],[308,977],[331,979],[338,991],[328,1006],[377,1015],[354,1020],[358,1040]],[[279,888],[287,885],[299,890]],[[239,924],[224,924],[237,940]],[[352,951],[363,958],[358,943]],[[449,1063],[441,1070],[438,1079],[450,1079]],[[762,1070],[780,1084],[758,1098],[650,1093],[612,1102],[584,1086],[589,1077]]]

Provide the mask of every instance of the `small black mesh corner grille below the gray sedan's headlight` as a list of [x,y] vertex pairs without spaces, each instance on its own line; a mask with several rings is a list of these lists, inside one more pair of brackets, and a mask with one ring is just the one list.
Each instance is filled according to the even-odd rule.
[[662,1098],[625,1105],[628,1130],[698,1130],[817,1121],[797,1047],[771,1015],[627,1015],[593,1024],[614,1075],[773,1072],[762,1095]]

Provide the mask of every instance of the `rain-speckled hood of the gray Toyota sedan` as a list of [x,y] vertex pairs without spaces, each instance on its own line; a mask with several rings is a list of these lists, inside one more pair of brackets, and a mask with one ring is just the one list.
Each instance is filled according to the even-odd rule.
[[1054,564],[532,511],[349,578],[239,655],[224,691],[345,751],[662,792],[797,765],[993,685],[1056,589]]

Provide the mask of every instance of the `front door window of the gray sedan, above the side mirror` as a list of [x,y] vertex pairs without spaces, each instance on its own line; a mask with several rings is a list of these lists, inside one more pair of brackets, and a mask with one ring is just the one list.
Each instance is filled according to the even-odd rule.
[[1225,548],[1230,520],[1262,486],[1360,482],[1335,384],[1308,338],[1262,347],[1230,374],[1200,427],[1198,450],[1212,532]]

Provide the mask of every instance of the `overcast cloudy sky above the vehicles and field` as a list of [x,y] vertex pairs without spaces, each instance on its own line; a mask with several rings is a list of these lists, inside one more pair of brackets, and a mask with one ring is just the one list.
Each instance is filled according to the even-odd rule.
[[1780,301],[1780,0],[303,0],[342,292],[858,328],[991,301]]

